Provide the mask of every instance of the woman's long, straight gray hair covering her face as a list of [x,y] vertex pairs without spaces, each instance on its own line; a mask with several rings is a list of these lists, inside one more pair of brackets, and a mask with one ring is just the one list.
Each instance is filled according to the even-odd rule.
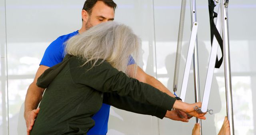
[[92,62],[92,66],[109,62],[119,71],[134,77],[137,66],[129,70],[127,66],[131,56],[135,61],[138,59],[140,45],[140,39],[131,28],[117,22],[106,22],[70,38],[65,53],[82,58],[84,64]]

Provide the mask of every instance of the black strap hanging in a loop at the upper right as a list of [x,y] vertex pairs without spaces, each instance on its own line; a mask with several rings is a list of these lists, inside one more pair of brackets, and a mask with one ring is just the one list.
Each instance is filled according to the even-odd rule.
[[220,68],[220,66],[223,62],[223,40],[214,24],[214,18],[216,18],[218,16],[218,14],[216,12],[214,12],[214,7],[216,5],[214,4],[213,0],[208,0],[208,6],[209,6],[210,28],[211,28],[211,45],[212,45],[212,40],[215,36],[218,41],[218,44],[220,45],[220,49],[221,49],[221,53],[222,53],[222,57],[220,58],[220,60],[218,60],[218,56],[216,58],[215,68]]

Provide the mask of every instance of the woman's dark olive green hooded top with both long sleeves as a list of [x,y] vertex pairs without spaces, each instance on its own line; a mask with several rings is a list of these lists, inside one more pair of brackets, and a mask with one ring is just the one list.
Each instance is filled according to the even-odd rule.
[[92,67],[67,55],[47,69],[37,85],[47,88],[31,135],[85,135],[102,103],[163,118],[175,98],[128,77],[108,62]]

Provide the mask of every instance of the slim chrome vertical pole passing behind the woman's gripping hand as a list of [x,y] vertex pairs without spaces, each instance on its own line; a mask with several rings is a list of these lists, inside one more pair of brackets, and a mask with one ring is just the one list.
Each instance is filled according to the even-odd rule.
[[[196,22],[196,0],[190,0],[190,9],[191,9],[191,26]],[[191,27],[192,29],[192,27]],[[198,49],[197,49],[197,36],[194,49],[194,86],[195,86],[195,99],[196,102],[200,102],[200,87],[199,87],[199,70],[198,70]],[[200,124],[200,135],[202,135],[202,121],[201,119],[196,118],[196,123]]]

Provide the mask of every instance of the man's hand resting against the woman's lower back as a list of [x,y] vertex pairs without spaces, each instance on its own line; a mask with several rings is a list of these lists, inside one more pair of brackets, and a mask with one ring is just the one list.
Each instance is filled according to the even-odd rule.
[[24,113],[24,117],[26,120],[26,126],[27,126],[27,135],[29,135],[30,131],[32,130],[34,121],[35,121],[38,113],[39,113],[39,108]]

